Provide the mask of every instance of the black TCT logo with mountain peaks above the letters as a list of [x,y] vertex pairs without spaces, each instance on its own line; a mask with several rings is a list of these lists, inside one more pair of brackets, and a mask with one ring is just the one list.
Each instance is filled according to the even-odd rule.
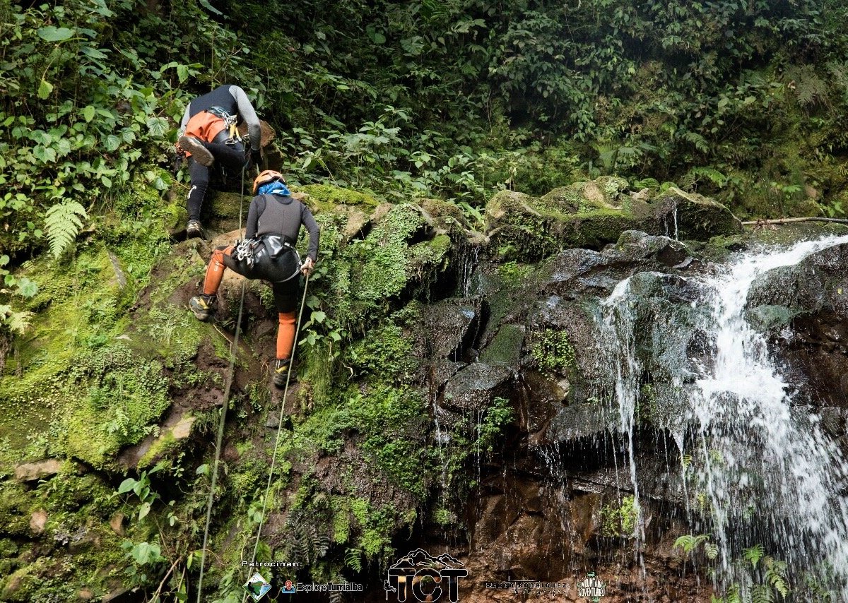
[[416,549],[389,567],[387,573],[388,579],[382,584],[386,600],[391,591],[399,603],[438,601],[445,594],[450,603],[456,603],[460,600],[460,578],[466,578],[468,570],[448,553],[433,557],[426,550]]

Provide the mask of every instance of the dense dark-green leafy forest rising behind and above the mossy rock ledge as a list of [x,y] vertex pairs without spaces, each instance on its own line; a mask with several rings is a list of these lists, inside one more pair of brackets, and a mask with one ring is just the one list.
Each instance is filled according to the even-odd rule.
[[846,13],[836,0],[0,0],[0,270],[58,256],[90,214],[150,209],[131,191],[179,184],[178,119],[222,83],[276,128],[295,184],[452,198],[482,219],[499,188],[620,174],[743,216],[840,216]]

